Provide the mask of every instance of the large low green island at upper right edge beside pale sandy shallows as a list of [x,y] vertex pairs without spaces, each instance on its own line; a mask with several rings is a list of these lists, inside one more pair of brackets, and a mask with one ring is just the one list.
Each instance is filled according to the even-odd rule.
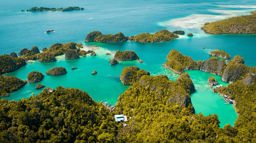
[[242,15],[212,23],[205,23],[201,29],[210,34],[256,33],[256,14]]

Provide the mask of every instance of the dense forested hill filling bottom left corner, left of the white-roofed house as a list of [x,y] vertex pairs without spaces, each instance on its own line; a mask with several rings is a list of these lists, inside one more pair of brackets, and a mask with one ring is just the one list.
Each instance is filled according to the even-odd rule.
[[46,88],[18,102],[0,100],[0,142],[117,142],[117,125],[87,92]]

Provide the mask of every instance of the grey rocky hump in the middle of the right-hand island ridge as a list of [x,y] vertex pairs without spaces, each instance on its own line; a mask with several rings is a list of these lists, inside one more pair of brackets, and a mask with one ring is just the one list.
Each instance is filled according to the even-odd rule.
[[210,59],[203,61],[200,71],[220,75],[223,72],[225,66],[226,63],[224,60],[219,61],[217,57],[211,57]]

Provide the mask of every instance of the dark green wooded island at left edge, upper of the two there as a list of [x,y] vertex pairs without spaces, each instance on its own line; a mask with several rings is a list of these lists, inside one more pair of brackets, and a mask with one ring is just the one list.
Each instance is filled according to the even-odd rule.
[[18,70],[20,67],[25,65],[26,62],[22,58],[12,58],[8,54],[0,55],[0,74]]

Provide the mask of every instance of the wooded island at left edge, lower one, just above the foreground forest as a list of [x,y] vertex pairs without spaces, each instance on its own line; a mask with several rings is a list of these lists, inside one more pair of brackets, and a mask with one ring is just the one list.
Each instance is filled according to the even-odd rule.
[[26,80],[19,79],[15,76],[0,75],[0,94],[3,97],[10,96],[10,92],[18,90],[19,88],[23,87],[26,83]]

